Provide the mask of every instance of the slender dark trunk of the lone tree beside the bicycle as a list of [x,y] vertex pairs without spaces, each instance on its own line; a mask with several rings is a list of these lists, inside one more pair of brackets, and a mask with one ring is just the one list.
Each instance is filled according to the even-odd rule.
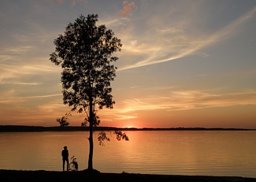
[[93,109],[92,109],[92,98],[90,97],[90,102],[89,102],[89,107],[90,107],[90,114],[89,114],[89,123],[90,123],[90,136],[89,136],[89,159],[88,159],[88,170],[93,170],[93,166],[92,166],[92,157],[93,157]]

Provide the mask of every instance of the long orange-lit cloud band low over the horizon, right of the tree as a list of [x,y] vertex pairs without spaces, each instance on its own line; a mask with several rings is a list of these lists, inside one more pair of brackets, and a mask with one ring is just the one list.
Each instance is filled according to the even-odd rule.
[[256,105],[256,91],[212,94],[196,90],[172,91],[169,96],[145,96],[141,98],[119,100],[113,110],[100,111],[104,122],[129,120],[141,117],[143,111],[182,111],[212,107],[238,105]]

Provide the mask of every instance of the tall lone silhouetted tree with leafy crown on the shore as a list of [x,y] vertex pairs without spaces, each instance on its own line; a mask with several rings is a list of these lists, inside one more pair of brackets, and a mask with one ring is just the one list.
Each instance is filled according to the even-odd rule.
[[[64,34],[54,40],[55,52],[50,60],[62,67],[61,82],[63,103],[86,114],[82,126],[89,124],[89,160],[88,169],[93,170],[93,132],[100,124],[97,109],[103,107],[113,109],[115,101],[111,95],[110,82],[114,81],[116,69],[112,63],[118,57],[111,56],[121,51],[121,40],[115,37],[112,30],[105,25],[97,26],[97,14],[80,15],[74,23],[69,23]],[[129,140],[119,131],[115,132],[117,140]],[[98,140],[109,141],[105,132],[100,132]]]

